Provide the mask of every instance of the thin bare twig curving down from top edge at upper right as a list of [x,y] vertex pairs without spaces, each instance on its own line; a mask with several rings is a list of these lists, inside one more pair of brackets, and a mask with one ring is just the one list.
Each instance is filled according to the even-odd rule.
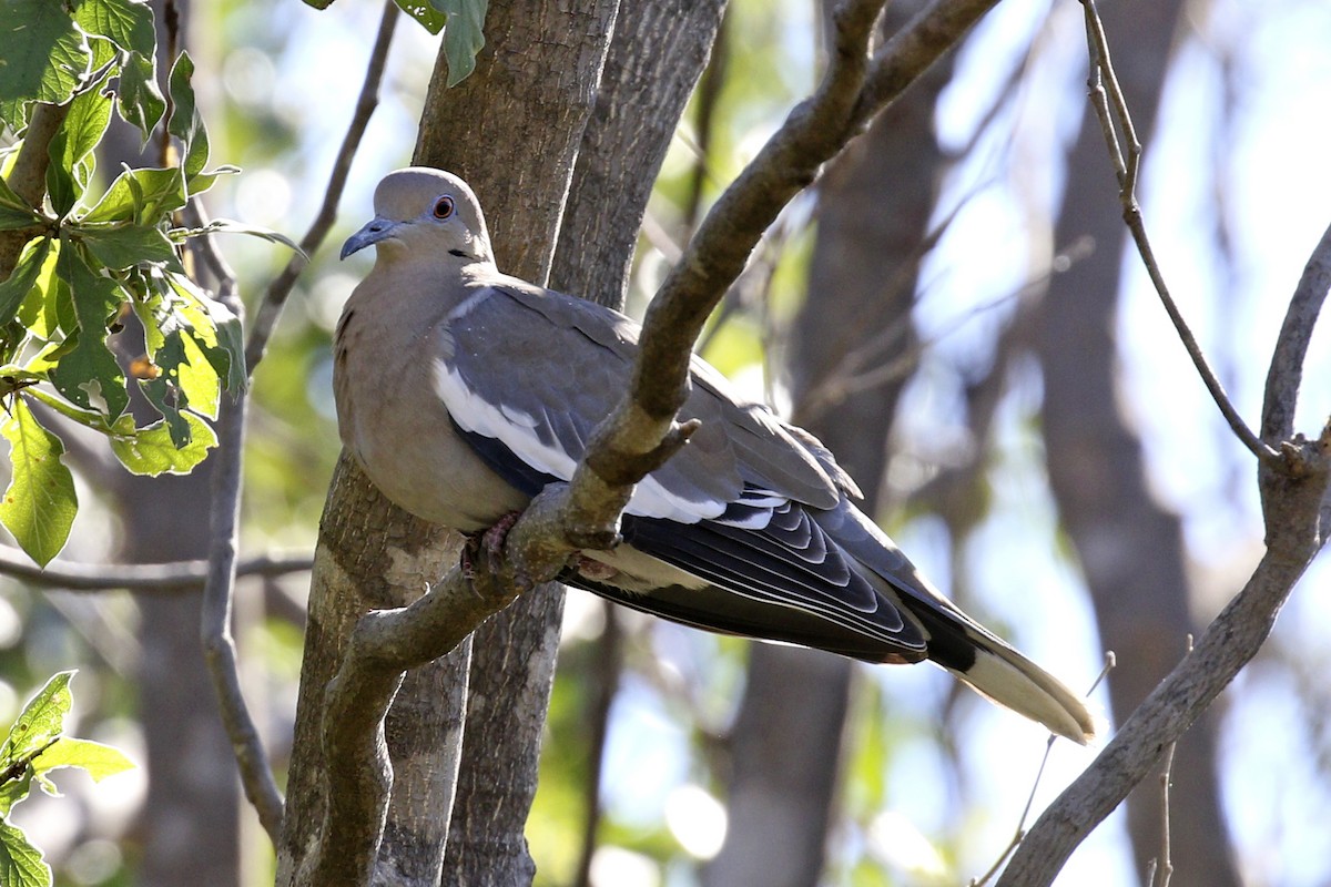
[[[1095,109],[1095,116],[1099,118],[1101,129],[1105,133],[1105,144],[1114,164],[1114,173],[1118,177],[1119,201],[1123,205],[1123,222],[1133,235],[1133,242],[1142,257],[1146,273],[1151,278],[1151,285],[1155,287],[1165,311],[1174,323],[1178,338],[1183,342],[1187,355],[1193,359],[1193,366],[1197,368],[1198,375],[1202,376],[1202,383],[1211,394],[1211,399],[1215,400],[1215,406],[1219,407],[1221,415],[1225,416],[1230,430],[1234,431],[1234,435],[1259,460],[1263,463],[1276,461],[1280,459],[1280,453],[1270,444],[1263,443],[1248,428],[1247,423],[1243,422],[1243,416],[1239,415],[1234,407],[1234,402],[1230,400],[1230,395],[1225,391],[1219,376],[1215,375],[1215,371],[1207,362],[1206,355],[1202,352],[1202,346],[1198,344],[1197,336],[1193,335],[1193,330],[1189,327],[1187,320],[1183,319],[1178,303],[1174,302],[1174,297],[1165,283],[1165,275],[1161,271],[1159,262],[1155,259],[1150,238],[1146,235],[1142,207],[1137,202],[1137,173],[1141,168],[1142,144],[1137,140],[1137,129],[1133,126],[1127,100],[1123,97],[1118,76],[1114,73],[1114,65],[1109,55],[1109,41],[1105,37],[1105,25],[1095,8],[1095,0],[1082,0],[1082,8],[1086,13],[1086,39],[1090,51],[1090,74],[1086,85],[1090,90],[1091,106]],[[1113,112],[1110,110],[1110,102],[1113,102]],[[1119,137],[1114,129],[1115,121],[1123,130],[1126,152],[1119,145]]]

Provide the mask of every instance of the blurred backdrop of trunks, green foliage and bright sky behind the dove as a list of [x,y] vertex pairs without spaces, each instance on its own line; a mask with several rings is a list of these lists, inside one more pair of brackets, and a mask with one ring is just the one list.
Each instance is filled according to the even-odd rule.
[[[885,28],[920,5],[890,4]],[[214,162],[245,170],[209,194],[210,213],[298,239],[382,7],[184,8]],[[1284,303],[1331,222],[1331,7],[1113,0],[1102,12],[1146,145],[1141,197],[1162,270],[1254,424]],[[819,0],[731,1],[656,184],[630,313],[815,86],[825,16]],[[256,374],[242,555],[313,549],[338,452],[330,336],[370,261],[339,265],[335,243],[369,217],[379,177],[409,161],[437,45],[399,24],[335,235]],[[1094,698],[1121,721],[1242,586],[1262,525],[1252,457],[1125,253],[1085,70],[1079,4],[1001,4],[787,209],[699,348],[823,438],[880,523],[981,621],[1073,686],[1089,688],[1114,650]],[[100,168],[136,152],[126,136]],[[249,238],[222,249],[246,298],[286,259]],[[1306,371],[1306,432],[1331,403],[1326,326]],[[130,477],[77,440],[68,461],[83,508],[64,559],[204,555],[206,471]],[[1262,656],[1178,747],[1175,887],[1331,883],[1327,581],[1323,557]],[[242,580],[237,593],[246,689],[280,773],[307,582]],[[141,765],[96,789],[60,774],[68,797],[16,810],[57,883],[272,883],[197,610],[190,592],[0,577],[0,723],[51,673],[79,668],[73,733]],[[1040,729],[941,672],[748,645],[570,592],[528,824],[536,883],[966,883],[1012,839],[1044,753]],[[1093,754],[1054,746],[1037,813]],[[1158,793],[1143,783],[1059,883],[1143,883],[1161,844]]]

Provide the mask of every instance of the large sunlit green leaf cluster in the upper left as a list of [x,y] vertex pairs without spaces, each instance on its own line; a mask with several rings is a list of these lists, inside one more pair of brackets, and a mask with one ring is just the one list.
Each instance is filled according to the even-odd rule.
[[[5,13],[0,125],[16,137],[5,174],[25,149],[47,152],[49,164],[37,206],[0,178],[0,231],[24,242],[0,281],[0,434],[13,460],[0,523],[47,564],[68,539],[77,500],[59,438],[25,400],[106,435],[134,473],[190,471],[217,442],[206,419],[217,418],[221,387],[238,391],[246,375],[240,319],[192,279],[182,245],[246,229],[177,223],[194,195],[237,170],[205,170],[208,129],[188,53],[172,65],[165,94],[158,86],[157,28],[145,3],[12,0]],[[49,145],[25,146],[39,105],[59,106],[63,120]],[[162,166],[125,168],[100,190],[95,149],[113,109],[145,145],[165,122],[168,148]],[[144,328],[144,354],[122,368],[110,338],[130,314]],[[126,375],[160,416],[144,427],[128,414]]]

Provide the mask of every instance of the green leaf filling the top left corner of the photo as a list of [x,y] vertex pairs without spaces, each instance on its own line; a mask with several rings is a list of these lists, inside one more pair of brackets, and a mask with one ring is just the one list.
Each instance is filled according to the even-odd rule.
[[24,128],[24,105],[36,100],[63,105],[88,73],[92,55],[65,4],[52,0],[5,0],[0,16],[0,109],[4,122]]

